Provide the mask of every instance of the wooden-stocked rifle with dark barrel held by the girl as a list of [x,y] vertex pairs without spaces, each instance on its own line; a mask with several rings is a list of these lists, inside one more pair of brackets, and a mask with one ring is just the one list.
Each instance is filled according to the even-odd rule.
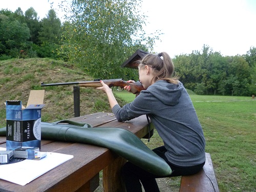
[[[129,83],[124,81],[123,79],[106,79],[102,80],[105,84],[107,84],[110,88],[112,87],[120,87],[122,91],[125,86],[131,86],[131,92],[133,94],[138,94],[140,91],[145,90],[140,82]],[[41,82],[41,87],[46,86],[66,86],[69,84],[78,84],[79,87],[86,88],[99,88],[102,87],[100,83],[100,79],[94,79],[93,81],[77,81],[77,82],[60,82],[60,83],[49,83],[45,84]]]

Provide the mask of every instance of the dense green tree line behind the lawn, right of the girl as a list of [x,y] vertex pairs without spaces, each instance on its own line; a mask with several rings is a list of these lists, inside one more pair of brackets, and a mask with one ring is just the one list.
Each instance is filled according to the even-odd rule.
[[245,55],[222,56],[204,46],[202,51],[175,56],[175,71],[184,86],[199,95],[256,94],[256,48]]

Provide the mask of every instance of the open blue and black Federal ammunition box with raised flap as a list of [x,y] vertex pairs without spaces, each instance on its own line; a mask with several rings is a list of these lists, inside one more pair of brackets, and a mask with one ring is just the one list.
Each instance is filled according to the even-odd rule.
[[6,148],[41,147],[41,109],[45,90],[32,90],[27,107],[22,101],[6,101]]

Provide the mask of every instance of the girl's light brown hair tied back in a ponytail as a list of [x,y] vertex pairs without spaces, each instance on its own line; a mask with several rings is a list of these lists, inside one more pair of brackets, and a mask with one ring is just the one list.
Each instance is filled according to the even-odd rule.
[[[178,77],[173,76],[174,64],[170,56],[166,52],[159,54],[147,54],[139,62],[139,69],[145,68],[145,65],[153,69],[154,78],[152,81],[166,80],[169,83],[178,84]],[[151,82],[152,83],[152,82]]]

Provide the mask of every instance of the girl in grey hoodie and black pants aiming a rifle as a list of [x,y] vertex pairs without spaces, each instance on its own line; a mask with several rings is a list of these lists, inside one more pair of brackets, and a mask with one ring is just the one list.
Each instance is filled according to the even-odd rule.
[[[198,173],[205,163],[205,139],[193,103],[183,84],[173,77],[174,65],[165,52],[147,54],[139,62],[139,80],[146,89],[122,108],[112,90],[101,81],[97,88],[106,93],[118,121],[148,115],[164,145],[153,151],[163,158],[173,172],[167,177]],[[134,81],[128,81],[134,82]],[[124,87],[130,91],[130,87]],[[150,159],[148,159],[150,161]],[[159,191],[157,175],[127,162],[122,169],[127,192]]]

